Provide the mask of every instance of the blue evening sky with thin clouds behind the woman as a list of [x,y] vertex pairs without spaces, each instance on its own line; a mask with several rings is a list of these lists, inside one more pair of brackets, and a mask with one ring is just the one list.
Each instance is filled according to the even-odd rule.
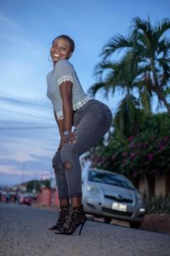
[[[68,34],[76,43],[70,61],[85,92],[96,82],[102,47],[127,35],[134,17],[151,23],[169,17],[169,0],[0,1],[0,185],[54,177],[51,160],[59,132],[46,92],[53,39]],[[121,100],[105,99],[114,114]]]

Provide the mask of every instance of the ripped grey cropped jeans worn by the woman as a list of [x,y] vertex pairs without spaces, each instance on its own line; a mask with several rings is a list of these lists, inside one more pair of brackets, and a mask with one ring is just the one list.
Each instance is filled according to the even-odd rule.
[[[73,116],[76,143],[65,143],[65,146],[54,154],[53,166],[59,199],[82,195],[82,170],[80,156],[93,147],[107,131],[112,122],[111,110],[102,102],[89,100]],[[70,163],[65,169],[63,163]]]

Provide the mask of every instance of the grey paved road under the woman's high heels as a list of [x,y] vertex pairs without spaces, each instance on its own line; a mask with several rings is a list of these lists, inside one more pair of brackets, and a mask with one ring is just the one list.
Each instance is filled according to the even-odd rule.
[[170,235],[88,220],[82,235],[48,230],[56,212],[0,204],[0,256],[169,256]]

